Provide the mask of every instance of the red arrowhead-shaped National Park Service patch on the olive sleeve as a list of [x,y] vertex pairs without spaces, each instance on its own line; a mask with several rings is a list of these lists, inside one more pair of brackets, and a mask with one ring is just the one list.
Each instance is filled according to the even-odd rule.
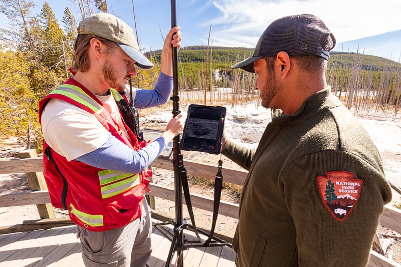
[[318,176],[317,185],[324,205],[337,220],[345,220],[351,213],[362,189],[362,180],[348,171],[330,171]]

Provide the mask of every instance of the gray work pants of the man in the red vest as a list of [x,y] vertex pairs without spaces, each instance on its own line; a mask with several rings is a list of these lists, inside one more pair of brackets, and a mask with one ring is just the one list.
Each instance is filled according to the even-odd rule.
[[121,228],[89,231],[77,225],[87,267],[144,267],[152,252],[150,208],[143,198],[142,216]]

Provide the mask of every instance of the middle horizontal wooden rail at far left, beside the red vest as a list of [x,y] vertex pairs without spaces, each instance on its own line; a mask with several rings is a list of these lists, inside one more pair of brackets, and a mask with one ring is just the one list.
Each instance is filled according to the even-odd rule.
[[47,190],[0,194],[0,207],[15,207],[43,203],[50,203],[50,196]]

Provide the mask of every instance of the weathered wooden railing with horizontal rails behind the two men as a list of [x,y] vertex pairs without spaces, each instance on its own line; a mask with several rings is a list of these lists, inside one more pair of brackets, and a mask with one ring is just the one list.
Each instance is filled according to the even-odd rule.
[[[51,227],[73,224],[69,219],[55,218],[54,209],[50,204],[49,193],[43,177],[42,158],[38,158],[35,150],[25,150],[20,153],[21,159],[0,160],[0,174],[26,173],[31,191],[0,194],[0,207],[22,206],[36,204],[41,220],[24,222],[23,225],[11,225],[0,227],[0,234],[17,231],[27,231],[35,229],[47,229]],[[188,175],[215,179],[217,166],[197,163],[193,161],[184,161]],[[156,159],[152,167],[166,170],[173,170],[172,164],[168,159]],[[246,171],[223,168],[224,181],[231,184],[243,185],[247,176]],[[150,183],[152,190],[150,195],[174,201],[174,189],[165,186]],[[184,200],[183,200],[184,201]],[[191,194],[193,207],[213,211],[213,198]],[[233,218],[238,218],[239,205],[227,201],[221,201],[219,214]],[[168,217],[156,213],[156,217],[161,219]],[[380,216],[380,225],[401,233],[401,211],[390,205],[386,205],[383,214]],[[363,227],[363,226],[362,226]],[[219,234],[226,240],[232,239],[232,234]],[[400,264],[389,260],[375,251],[370,251],[368,266],[401,266]]]

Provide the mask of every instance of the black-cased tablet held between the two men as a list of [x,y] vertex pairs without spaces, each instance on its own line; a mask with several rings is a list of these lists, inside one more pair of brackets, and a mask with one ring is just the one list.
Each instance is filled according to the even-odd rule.
[[225,107],[189,105],[180,148],[220,154],[225,117]]

